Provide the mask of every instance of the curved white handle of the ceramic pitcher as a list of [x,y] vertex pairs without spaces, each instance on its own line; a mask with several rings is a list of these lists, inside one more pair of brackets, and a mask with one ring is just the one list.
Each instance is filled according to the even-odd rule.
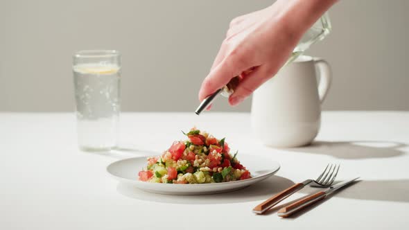
[[314,57],[315,67],[320,73],[320,84],[318,85],[318,94],[320,95],[320,102],[322,103],[327,97],[329,88],[331,87],[332,73],[331,66],[326,60],[319,57]]

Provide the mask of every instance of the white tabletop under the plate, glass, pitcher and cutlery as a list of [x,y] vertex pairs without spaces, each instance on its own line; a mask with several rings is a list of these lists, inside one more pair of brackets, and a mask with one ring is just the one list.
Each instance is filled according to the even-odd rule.
[[[155,195],[119,185],[118,159],[153,154],[193,125],[227,137],[240,154],[277,160],[276,176],[220,195]],[[80,152],[73,114],[0,113],[0,229],[405,229],[409,219],[409,112],[324,112],[317,142],[276,150],[250,134],[245,113],[123,113],[121,151]],[[252,208],[340,163],[363,181],[295,218]],[[139,170],[135,168],[135,171]],[[292,199],[312,193],[304,188]]]

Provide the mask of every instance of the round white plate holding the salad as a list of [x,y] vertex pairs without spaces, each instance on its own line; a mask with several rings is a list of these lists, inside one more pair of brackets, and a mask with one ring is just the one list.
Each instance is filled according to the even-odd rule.
[[236,182],[223,182],[212,184],[162,184],[140,182],[138,172],[146,166],[146,157],[135,157],[115,161],[107,166],[107,171],[118,179],[119,182],[131,184],[137,188],[150,193],[161,193],[168,195],[203,195],[213,193],[226,193],[245,188],[256,182],[261,182],[277,172],[279,163],[266,157],[238,155],[243,166],[250,170],[252,178]]

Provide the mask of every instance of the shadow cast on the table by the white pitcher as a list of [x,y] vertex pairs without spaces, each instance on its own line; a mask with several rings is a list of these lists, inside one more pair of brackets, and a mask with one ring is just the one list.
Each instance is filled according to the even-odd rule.
[[286,150],[326,154],[340,159],[367,159],[397,157],[405,154],[399,148],[406,146],[404,143],[391,141],[314,141],[311,145]]

